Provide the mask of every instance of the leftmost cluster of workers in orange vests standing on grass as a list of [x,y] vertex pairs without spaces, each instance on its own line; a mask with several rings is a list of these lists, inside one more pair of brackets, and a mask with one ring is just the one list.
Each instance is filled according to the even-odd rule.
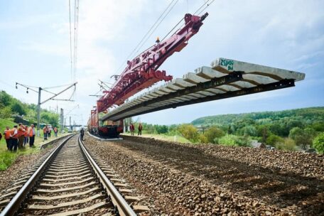
[[[17,148],[21,149],[26,144],[29,144],[30,147],[33,147],[35,141],[35,126],[23,125],[19,123],[18,126],[13,126],[10,129],[9,126],[6,126],[4,130],[4,139],[6,139],[6,146],[8,151],[17,151]],[[0,140],[2,139],[2,134],[0,133]]]

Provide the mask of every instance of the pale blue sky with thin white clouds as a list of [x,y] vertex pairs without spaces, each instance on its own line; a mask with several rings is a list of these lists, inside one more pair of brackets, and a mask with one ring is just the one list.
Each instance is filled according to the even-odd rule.
[[[126,57],[170,2],[80,0],[75,101],[50,101],[42,108],[63,108],[72,121],[86,124],[97,99],[89,95],[99,91],[98,80],[114,82],[110,77],[122,72]],[[203,3],[179,0],[142,49],[153,45],[157,36],[163,38],[185,13],[194,13]],[[74,1],[71,4],[73,27]],[[134,119],[180,124],[217,114],[324,106],[324,1],[215,0],[206,11],[210,15],[200,31],[159,70],[182,77],[222,57],[304,72],[306,79],[284,90],[166,109]],[[16,82],[34,87],[72,83],[69,26],[68,0],[0,0],[0,90],[36,104],[38,95],[26,94],[20,86],[16,89]],[[71,94],[69,90],[58,98],[68,99]],[[42,92],[42,101],[48,97]]]

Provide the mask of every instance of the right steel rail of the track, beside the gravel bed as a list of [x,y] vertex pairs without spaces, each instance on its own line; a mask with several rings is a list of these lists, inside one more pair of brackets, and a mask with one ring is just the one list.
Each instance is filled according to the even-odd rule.
[[115,207],[117,207],[118,213],[121,216],[135,216],[136,213],[131,208],[131,206],[124,200],[124,198],[121,196],[119,191],[114,187],[112,182],[107,178],[107,176],[104,174],[104,172],[99,168],[97,163],[92,159],[90,156],[90,153],[85,148],[84,144],[82,143],[80,136],[79,136],[79,144],[81,146],[81,149],[83,153],[85,153],[85,156],[87,157],[88,161],[90,162],[90,165],[95,170],[95,173],[97,174],[99,180],[104,185],[104,188],[106,189],[107,193],[110,195],[110,198],[112,198],[112,202],[114,203]]

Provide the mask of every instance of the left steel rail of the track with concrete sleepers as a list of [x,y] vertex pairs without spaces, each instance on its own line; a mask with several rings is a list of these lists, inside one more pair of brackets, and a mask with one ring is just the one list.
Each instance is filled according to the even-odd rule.
[[29,178],[26,183],[23,185],[23,187],[18,190],[18,193],[11,199],[11,201],[6,205],[4,210],[0,213],[0,216],[4,215],[15,215],[18,209],[23,204],[23,200],[26,199],[28,193],[31,191],[33,186],[36,184],[37,180],[41,177],[41,174],[45,170],[45,168],[49,165],[50,161],[52,161],[53,158],[58,154],[60,149],[64,146],[64,144],[72,138],[72,136],[75,136],[75,134],[69,136],[67,139],[62,141],[58,147],[55,148],[52,153],[48,156],[48,158],[45,159],[45,161],[41,164],[41,166],[38,167],[38,169],[31,175],[31,178]]

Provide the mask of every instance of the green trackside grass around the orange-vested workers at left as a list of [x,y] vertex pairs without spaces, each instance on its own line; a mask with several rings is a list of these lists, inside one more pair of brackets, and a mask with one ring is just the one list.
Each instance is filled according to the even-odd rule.
[[[12,128],[14,124],[15,123],[10,120],[0,119],[1,134],[4,133],[4,129],[6,129],[6,126],[10,126]],[[65,135],[66,134],[58,133],[58,138]],[[54,139],[55,137],[52,134],[52,136],[47,141],[43,141],[43,136],[41,134],[41,137],[35,137],[35,143],[33,148],[30,148],[29,144],[26,144],[25,148],[18,149],[17,152],[14,153],[7,151],[6,140],[3,137],[3,139],[1,139],[0,141],[0,171],[5,171],[7,168],[9,168],[16,161],[16,158],[18,158],[18,156],[28,155],[32,153],[40,153],[42,151],[40,149],[40,146],[48,141],[53,141]]]

